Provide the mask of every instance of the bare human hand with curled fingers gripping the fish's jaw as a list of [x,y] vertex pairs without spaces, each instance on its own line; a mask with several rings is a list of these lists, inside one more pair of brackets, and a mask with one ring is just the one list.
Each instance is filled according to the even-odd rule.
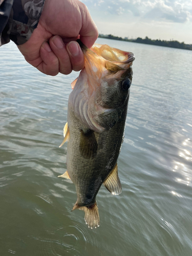
[[80,38],[90,48],[97,37],[96,25],[83,3],[46,0],[37,28],[18,49],[40,72],[67,75],[84,67],[83,53],[76,39]]

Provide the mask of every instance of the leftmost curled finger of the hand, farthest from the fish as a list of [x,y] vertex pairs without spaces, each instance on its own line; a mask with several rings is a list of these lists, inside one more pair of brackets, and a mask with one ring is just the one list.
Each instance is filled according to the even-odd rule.
[[42,62],[36,68],[46,75],[56,76],[59,73],[59,61],[48,42],[41,45],[40,57]]

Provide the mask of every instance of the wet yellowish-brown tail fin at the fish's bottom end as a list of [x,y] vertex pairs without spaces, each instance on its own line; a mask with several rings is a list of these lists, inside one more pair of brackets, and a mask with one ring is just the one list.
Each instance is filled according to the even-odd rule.
[[86,221],[86,224],[88,224],[88,227],[91,229],[93,227],[97,228],[100,225],[100,219],[99,219],[99,210],[97,206],[97,202],[95,202],[91,206],[78,206],[77,203],[74,205],[72,210],[79,209],[84,210],[84,220]]

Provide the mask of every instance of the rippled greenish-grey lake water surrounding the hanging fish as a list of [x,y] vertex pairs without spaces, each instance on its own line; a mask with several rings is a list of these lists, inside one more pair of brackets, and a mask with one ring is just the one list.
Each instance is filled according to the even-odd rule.
[[31,67],[13,43],[0,48],[0,255],[192,255],[192,51],[99,38],[135,54],[122,194],[101,187],[100,227],[71,209],[66,171],[71,82]]

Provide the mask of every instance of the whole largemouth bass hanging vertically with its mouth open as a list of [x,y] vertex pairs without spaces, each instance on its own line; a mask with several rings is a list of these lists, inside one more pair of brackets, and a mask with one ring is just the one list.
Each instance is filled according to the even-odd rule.
[[75,184],[72,209],[84,210],[88,227],[100,225],[97,193],[103,184],[113,195],[122,191],[117,159],[124,137],[133,78],[132,52],[108,45],[87,48],[78,39],[84,68],[72,82],[63,142],[67,145],[67,171],[58,177]]

